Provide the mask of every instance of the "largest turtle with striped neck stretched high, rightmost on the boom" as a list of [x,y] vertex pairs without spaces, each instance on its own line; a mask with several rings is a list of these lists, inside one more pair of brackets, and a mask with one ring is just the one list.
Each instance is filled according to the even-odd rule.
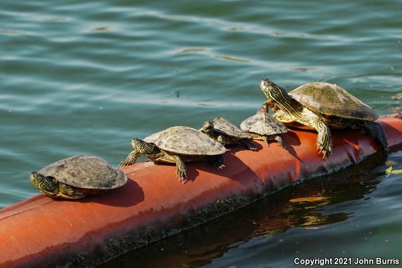
[[269,99],[266,104],[275,112],[276,119],[292,127],[317,130],[317,147],[323,158],[332,153],[330,128],[362,129],[388,151],[385,132],[374,122],[378,115],[342,87],[311,82],[287,94],[269,79],[262,79],[260,87]]

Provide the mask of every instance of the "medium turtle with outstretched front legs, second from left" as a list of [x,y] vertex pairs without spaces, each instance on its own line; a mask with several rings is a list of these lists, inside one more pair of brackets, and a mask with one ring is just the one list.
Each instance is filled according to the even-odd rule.
[[185,126],[176,126],[152,134],[144,140],[131,140],[134,150],[120,162],[119,167],[134,164],[141,155],[157,162],[176,163],[176,176],[183,182],[187,178],[184,162],[211,160],[218,169],[223,168],[226,148],[204,133]]

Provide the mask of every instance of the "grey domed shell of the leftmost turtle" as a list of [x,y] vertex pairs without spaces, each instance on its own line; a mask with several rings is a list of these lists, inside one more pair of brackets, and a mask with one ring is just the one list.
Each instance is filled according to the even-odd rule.
[[127,176],[105,159],[77,155],[56,161],[38,171],[58,182],[84,189],[114,189],[127,183]]

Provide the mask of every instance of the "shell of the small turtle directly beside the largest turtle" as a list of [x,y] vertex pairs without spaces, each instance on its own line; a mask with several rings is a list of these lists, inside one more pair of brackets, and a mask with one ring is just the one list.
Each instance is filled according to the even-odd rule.
[[267,113],[258,113],[247,118],[240,124],[240,128],[244,131],[260,135],[274,135],[287,132],[287,128],[281,122]]

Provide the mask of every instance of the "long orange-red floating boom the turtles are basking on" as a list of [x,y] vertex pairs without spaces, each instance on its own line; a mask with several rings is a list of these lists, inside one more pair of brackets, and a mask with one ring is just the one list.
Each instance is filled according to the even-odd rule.
[[[402,143],[402,120],[377,122],[389,146]],[[379,150],[363,131],[332,134],[327,160],[316,149],[316,132],[289,130],[282,135],[288,152],[262,141],[255,141],[257,152],[231,146],[222,170],[208,161],[188,163],[184,185],[174,165],[145,161],[123,168],[127,185],[104,195],[75,201],[39,195],[17,203],[0,210],[0,266],[96,265]]]

